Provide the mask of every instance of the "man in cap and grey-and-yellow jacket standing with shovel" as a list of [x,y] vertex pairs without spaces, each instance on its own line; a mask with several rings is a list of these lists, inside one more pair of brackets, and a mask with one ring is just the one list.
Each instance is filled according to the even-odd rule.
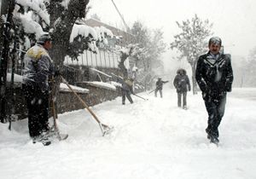
[[33,142],[41,141],[49,145],[49,75],[54,74],[54,66],[49,57],[51,38],[48,34],[38,38],[38,42],[28,49],[24,60],[22,89],[28,109],[28,129]]

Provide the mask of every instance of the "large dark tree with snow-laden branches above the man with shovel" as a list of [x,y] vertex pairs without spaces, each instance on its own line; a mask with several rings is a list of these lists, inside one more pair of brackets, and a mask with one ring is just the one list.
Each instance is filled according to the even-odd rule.
[[[3,6],[9,9],[7,1],[4,2]],[[7,15],[7,11],[1,10],[3,14],[1,24],[9,25],[11,22],[9,44],[7,48],[2,49],[9,50],[10,47],[10,49],[26,51],[47,32],[53,39],[53,49],[49,53],[59,69],[62,68],[66,55],[76,59],[84,49],[96,53],[97,45],[107,44],[107,37],[113,37],[113,34],[106,28],[92,28],[84,24],[84,17],[89,9],[88,3],[89,0],[10,0],[12,20],[8,20],[10,15]],[[9,60],[6,58],[4,61]],[[6,78],[3,81],[6,81]]]

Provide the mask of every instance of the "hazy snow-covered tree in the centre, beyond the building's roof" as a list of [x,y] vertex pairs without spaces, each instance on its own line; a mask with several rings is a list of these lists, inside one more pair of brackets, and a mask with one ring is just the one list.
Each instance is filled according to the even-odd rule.
[[135,36],[137,43],[137,53],[133,55],[138,67],[137,78],[148,86],[155,76],[154,72],[163,70],[160,59],[166,49],[163,32],[160,29],[148,29],[142,22],[136,21],[131,28],[131,33]]

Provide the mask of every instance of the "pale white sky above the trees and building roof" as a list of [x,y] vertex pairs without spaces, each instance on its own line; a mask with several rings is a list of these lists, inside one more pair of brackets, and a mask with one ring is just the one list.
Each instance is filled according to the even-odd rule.
[[[129,26],[141,20],[150,28],[162,28],[166,43],[180,32],[175,21],[190,20],[198,14],[213,23],[212,32],[222,38],[225,53],[247,56],[256,46],[255,0],[114,0],[114,3]],[[102,21],[121,26],[111,0],[90,0],[90,5],[90,14],[96,13]]]

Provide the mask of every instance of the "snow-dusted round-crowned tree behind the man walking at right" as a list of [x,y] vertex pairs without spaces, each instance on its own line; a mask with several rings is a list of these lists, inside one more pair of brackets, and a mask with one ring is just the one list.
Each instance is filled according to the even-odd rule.
[[174,36],[174,42],[170,43],[171,49],[177,49],[180,52],[178,59],[186,58],[192,67],[193,93],[196,94],[195,66],[198,57],[207,50],[207,38],[212,35],[212,23],[201,20],[197,14],[192,20],[176,23],[182,32]]

